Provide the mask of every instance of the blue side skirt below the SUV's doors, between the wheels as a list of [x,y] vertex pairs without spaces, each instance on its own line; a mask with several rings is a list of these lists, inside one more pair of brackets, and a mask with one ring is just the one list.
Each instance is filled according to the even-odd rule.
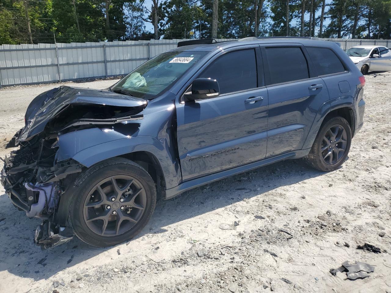
[[266,166],[266,165],[276,163],[279,161],[283,161],[286,159],[298,159],[301,157],[305,157],[306,155],[308,155],[310,150],[311,149],[308,148],[305,150],[298,150],[298,151],[289,152],[289,153],[282,154],[282,155],[276,155],[274,157],[269,157],[269,158],[266,158],[266,159],[263,159],[260,161],[256,161],[253,163],[249,163],[249,164],[246,164],[243,166],[224,170],[219,173],[214,173],[214,174],[210,174],[210,175],[207,175],[207,176],[204,176],[201,178],[197,178],[197,179],[189,180],[187,182],[183,182],[182,184],[179,184],[178,186],[176,186],[174,188],[166,189],[165,199],[167,200],[167,199],[176,197],[177,195],[181,194],[184,191],[187,191],[187,190],[199,187],[199,186],[203,186],[205,184],[208,184],[208,183],[211,183],[211,182],[214,182],[217,180],[228,178],[228,177],[231,177],[231,176],[239,174],[239,173],[247,172],[249,170],[253,170],[253,169],[256,169],[256,168],[259,168],[262,166]]

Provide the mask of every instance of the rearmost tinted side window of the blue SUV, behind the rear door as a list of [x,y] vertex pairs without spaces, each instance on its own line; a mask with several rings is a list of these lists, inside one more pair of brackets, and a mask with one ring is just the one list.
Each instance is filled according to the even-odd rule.
[[307,51],[314,63],[318,75],[345,71],[341,61],[332,50],[326,48],[307,47]]

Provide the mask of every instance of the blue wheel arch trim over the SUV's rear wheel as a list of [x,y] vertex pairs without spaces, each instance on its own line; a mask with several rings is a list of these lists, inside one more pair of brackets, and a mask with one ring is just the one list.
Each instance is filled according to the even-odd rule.
[[[308,132],[307,139],[303,145],[303,149],[311,148],[314,144],[315,138],[319,129],[323,123],[323,120],[331,111],[337,110],[339,108],[348,107],[353,111],[353,123],[355,124],[355,107],[354,107],[354,98],[352,96],[339,96],[332,100],[329,100],[321,105],[318,113],[316,114],[315,120],[312,123],[312,127]],[[354,127],[353,127],[354,129]],[[352,131],[353,131],[352,129]]]

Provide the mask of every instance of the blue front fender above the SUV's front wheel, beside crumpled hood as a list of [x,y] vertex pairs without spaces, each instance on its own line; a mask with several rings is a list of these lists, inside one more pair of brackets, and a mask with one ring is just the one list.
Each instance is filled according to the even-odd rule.
[[180,183],[178,163],[165,140],[126,135],[115,129],[90,128],[60,135],[58,146],[57,161],[72,158],[86,167],[131,152],[150,152],[160,163],[167,188]]

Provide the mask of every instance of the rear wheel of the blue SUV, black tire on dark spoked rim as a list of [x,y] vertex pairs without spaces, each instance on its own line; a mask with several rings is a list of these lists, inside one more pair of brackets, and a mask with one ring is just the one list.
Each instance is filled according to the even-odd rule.
[[[338,125],[338,129],[337,126]],[[343,130],[341,130],[343,128]],[[331,134],[337,132],[337,140],[331,138]],[[339,133],[341,133],[341,139],[338,139]],[[335,138],[335,136],[332,136]],[[327,141],[326,138],[330,140]],[[346,140],[346,142],[344,142]],[[313,168],[330,172],[339,168],[348,156],[350,145],[352,143],[352,130],[346,119],[342,117],[333,117],[328,121],[323,122],[310,153],[305,158],[307,163]],[[322,151],[322,149],[324,149]],[[343,149],[343,153],[341,153]],[[331,152],[331,154],[330,154]],[[328,155],[329,154],[329,155]],[[326,155],[326,157],[325,157]]]

